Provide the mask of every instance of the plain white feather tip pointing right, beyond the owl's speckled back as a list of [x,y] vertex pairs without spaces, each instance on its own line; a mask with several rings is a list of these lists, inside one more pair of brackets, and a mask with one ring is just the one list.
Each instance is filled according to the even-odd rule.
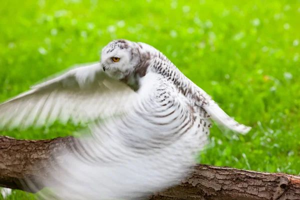
[[203,109],[210,115],[212,120],[233,131],[246,134],[251,129],[251,127],[240,124],[228,116],[215,102],[204,105]]

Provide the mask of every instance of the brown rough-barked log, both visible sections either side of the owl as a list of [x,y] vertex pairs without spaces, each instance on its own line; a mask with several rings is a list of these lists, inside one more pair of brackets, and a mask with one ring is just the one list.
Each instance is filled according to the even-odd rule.
[[[0,186],[38,191],[46,185],[35,180],[46,177],[51,155],[72,148],[75,141],[72,136],[46,140],[0,136]],[[24,186],[25,178],[38,185],[37,190]],[[149,199],[300,199],[300,176],[196,164],[191,176],[180,185]]]

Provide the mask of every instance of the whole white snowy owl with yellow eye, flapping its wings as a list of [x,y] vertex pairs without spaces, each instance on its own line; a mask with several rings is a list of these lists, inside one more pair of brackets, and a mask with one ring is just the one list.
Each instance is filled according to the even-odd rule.
[[42,180],[59,199],[136,199],[160,191],[188,175],[207,143],[210,120],[250,130],[160,51],[125,39],[104,46],[99,62],[0,104],[1,128],[55,120],[88,122],[84,131],[91,133],[73,151],[55,155],[59,164]]

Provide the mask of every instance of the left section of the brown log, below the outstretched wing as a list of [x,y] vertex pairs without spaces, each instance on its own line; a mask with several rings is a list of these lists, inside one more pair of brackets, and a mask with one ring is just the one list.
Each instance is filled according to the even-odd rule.
[[[43,188],[37,180],[46,177],[46,167],[53,164],[51,155],[71,148],[74,141],[72,136],[26,140],[0,135],[0,186],[29,192]],[[24,179],[30,179],[37,190],[30,191]]]

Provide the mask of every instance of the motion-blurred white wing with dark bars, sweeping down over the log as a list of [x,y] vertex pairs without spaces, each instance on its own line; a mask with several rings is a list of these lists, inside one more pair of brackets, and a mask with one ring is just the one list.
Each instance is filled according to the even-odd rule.
[[[59,181],[51,184],[63,188],[56,192],[61,199],[96,199],[99,194],[102,199],[146,197],[178,184],[192,170],[207,142],[207,119],[162,75],[148,73],[139,81],[140,99],[130,111],[90,126],[94,137],[81,144],[88,154],[79,151],[59,158],[64,163],[51,174]],[[64,174],[65,169],[71,175]],[[91,179],[102,181],[90,184]]]

